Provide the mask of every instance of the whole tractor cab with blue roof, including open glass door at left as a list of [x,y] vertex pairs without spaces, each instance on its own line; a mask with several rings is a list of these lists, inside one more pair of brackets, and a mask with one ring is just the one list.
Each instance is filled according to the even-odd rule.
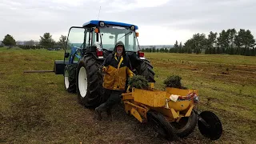
[[[98,59],[105,59],[113,52],[116,42],[122,41],[126,52],[144,58],[138,46],[138,26],[110,21],[92,20],[82,27],[70,28],[65,50],[65,61],[78,62],[86,53],[91,52]],[[136,57],[136,56],[133,56]]]

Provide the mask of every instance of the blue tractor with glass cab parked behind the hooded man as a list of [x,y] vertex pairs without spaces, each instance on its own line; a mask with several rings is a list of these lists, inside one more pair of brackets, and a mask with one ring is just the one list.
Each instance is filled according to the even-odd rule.
[[65,89],[78,94],[78,102],[95,107],[102,100],[102,62],[122,41],[130,58],[134,74],[154,81],[153,66],[138,45],[138,26],[110,21],[92,20],[70,27],[64,59],[54,63],[55,74],[64,75]]

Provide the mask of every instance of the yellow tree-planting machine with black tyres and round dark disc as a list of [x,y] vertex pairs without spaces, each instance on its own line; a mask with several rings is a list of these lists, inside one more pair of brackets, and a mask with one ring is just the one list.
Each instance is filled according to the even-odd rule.
[[183,90],[166,87],[165,91],[128,88],[122,94],[127,114],[134,115],[139,122],[151,122],[158,134],[166,139],[184,138],[194,131],[198,124],[201,134],[211,140],[222,135],[222,123],[210,112],[198,114],[198,90]]

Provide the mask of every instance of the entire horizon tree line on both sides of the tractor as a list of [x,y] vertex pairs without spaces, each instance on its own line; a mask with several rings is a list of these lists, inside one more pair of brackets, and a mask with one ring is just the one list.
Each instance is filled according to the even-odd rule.
[[[41,49],[41,48],[62,48],[66,46],[67,37],[61,35],[58,42],[55,42],[50,33],[40,36],[38,45],[33,40],[25,42],[25,45],[19,46],[22,49]],[[13,36],[6,34],[2,44],[5,46],[16,46]],[[210,31],[206,34],[194,34],[188,39],[184,45],[182,42],[176,41],[172,48],[142,49],[144,52],[165,52],[165,53],[187,53],[187,54],[240,54],[240,55],[256,55],[255,39],[250,30],[235,29],[222,30],[219,34]]]

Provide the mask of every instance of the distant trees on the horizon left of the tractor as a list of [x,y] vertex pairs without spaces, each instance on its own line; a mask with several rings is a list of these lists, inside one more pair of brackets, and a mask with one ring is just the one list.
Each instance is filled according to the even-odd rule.
[[17,45],[14,37],[10,34],[6,34],[2,40],[2,46],[18,46],[22,49],[47,49],[47,48],[61,48],[65,49],[67,37],[61,35],[58,42],[55,42],[50,33],[45,33],[40,36],[40,40],[36,43],[34,40],[24,42],[24,45]]

